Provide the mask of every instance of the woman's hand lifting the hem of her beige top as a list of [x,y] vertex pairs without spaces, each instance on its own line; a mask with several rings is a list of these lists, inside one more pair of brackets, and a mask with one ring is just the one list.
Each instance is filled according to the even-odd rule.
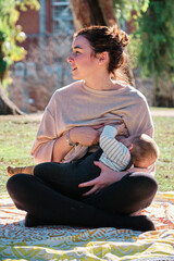
[[70,130],[70,139],[75,144],[78,142],[86,147],[97,145],[101,134],[98,129],[102,126],[100,124],[90,127],[74,127]]

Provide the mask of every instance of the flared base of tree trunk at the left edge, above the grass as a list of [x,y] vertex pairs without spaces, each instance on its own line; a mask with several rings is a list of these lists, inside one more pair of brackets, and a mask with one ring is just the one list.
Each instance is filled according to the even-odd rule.
[[24,114],[4,94],[0,83],[0,115]]

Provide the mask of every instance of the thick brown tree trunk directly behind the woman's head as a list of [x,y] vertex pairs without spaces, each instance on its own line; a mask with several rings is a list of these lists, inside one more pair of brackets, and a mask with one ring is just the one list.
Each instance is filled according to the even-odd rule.
[[[76,29],[90,25],[117,25],[112,0],[70,0]],[[133,72],[129,66],[124,69],[129,85],[135,86]]]

